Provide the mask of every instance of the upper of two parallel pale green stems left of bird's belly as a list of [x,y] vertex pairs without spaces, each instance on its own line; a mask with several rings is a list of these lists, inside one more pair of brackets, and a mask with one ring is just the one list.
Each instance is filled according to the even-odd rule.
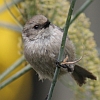
[[18,59],[12,66],[0,75],[0,80],[4,79],[10,72],[17,68],[25,60],[24,56]]

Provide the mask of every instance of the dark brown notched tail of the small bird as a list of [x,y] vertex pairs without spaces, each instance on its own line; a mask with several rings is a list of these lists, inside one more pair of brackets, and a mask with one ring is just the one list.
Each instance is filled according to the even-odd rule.
[[86,78],[96,80],[96,77],[91,72],[80,67],[79,65],[75,65],[72,77],[76,80],[79,86],[82,86],[83,84],[86,83]]

